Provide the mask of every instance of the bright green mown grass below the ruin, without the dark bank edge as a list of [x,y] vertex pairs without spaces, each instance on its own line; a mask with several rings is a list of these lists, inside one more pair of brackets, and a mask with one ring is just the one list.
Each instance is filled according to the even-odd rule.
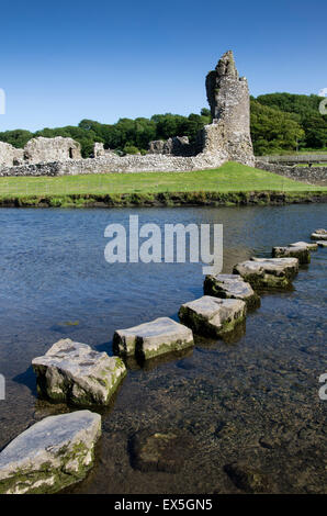
[[[1,198],[72,194],[151,194],[173,192],[327,192],[327,187],[309,186],[277,173],[236,162],[218,169],[192,172],[108,173],[64,177],[0,178]],[[58,199],[60,204],[60,200]]]

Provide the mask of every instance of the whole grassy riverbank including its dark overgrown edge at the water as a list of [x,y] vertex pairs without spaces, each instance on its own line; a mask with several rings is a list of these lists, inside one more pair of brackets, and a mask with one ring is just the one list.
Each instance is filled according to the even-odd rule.
[[0,178],[2,206],[126,206],[325,201],[309,186],[236,162],[214,170]]

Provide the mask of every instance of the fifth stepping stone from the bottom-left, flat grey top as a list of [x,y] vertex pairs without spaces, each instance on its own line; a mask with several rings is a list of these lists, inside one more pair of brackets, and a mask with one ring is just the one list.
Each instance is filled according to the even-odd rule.
[[259,295],[239,274],[206,276],[203,290],[206,295],[245,301],[248,309],[260,306]]

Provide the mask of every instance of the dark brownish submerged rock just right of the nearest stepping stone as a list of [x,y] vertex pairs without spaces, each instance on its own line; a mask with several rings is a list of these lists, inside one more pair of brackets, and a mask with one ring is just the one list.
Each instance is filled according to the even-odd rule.
[[142,471],[176,473],[183,465],[190,444],[190,436],[181,430],[139,431],[132,439],[132,464]]

